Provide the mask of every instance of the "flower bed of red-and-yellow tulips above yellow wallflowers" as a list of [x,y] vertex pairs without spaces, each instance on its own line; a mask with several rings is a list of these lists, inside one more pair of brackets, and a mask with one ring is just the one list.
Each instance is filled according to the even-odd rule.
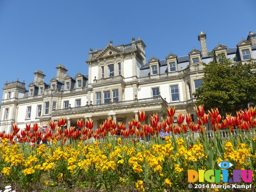
[[[0,133],[0,189],[11,185],[16,191],[244,191],[211,184],[252,184],[250,190],[255,191],[255,108],[240,111],[236,117],[227,115],[220,123],[218,110],[205,114],[204,107],[199,106],[198,123],[192,122],[190,115],[178,114],[178,125],[173,124],[175,108],[167,110],[166,120],[159,122],[155,114],[151,125],[144,123],[145,114],[139,112],[139,121],[129,122],[128,129],[122,124],[116,126],[112,119],[95,131],[92,120],[86,121],[85,127],[78,120],[81,129],[62,130],[66,124],[62,118],[58,129],[50,122],[52,131],[46,133],[38,132],[37,124],[33,131],[30,125],[20,130],[13,124],[12,134]],[[205,133],[209,116],[214,138]],[[234,126],[238,134],[231,136]],[[224,142],[220,136],[223,127],[230,134]],[[116,136],[118,129],[122,138]],[[163,140],[161,130],[166,135],[171,132],[172,137]],[[48,142],[38,144],[40,140]],[[209,182],[212,177],[205,175],[202,180],[199,174],[199,180],[188,182],[188,170],[222,170],[218,164],[224,160],[234,165],[232,169],[252,170],[252,180],[248,174],[247,182],[244,178],[225,182],[221,174],[220,181],[216,175],[216,182]],[[227,177],[233,178],[232,171]]]

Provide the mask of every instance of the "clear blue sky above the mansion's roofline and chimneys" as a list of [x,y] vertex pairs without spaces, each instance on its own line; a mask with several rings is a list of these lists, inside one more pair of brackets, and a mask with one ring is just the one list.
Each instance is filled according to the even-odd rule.
[[208,50],[236,47],[256,33],[255,8],[255,0],[0,0],[0,88],[17,78],[28,88],[37,69],[48,83],[59,63],[72,77],[88,74],[90,47],[110,39],[117,46],[140,37],[147,61],[200,50],[200,31]]

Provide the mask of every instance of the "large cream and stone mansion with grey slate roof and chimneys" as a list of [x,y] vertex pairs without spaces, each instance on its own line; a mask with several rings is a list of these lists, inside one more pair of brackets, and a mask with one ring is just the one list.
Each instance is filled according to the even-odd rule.
[[[218,44],[214,54],[226,58],[237,57],[245,62],[256,59],[256,42],[250,32],[235,48]],[[206,47],[206,34],[198,35],[201,51],[193,49],[186,56],[170,53],[164,60],[154,56],[146,62],[144,42],[114,46],[112,41],[102,50],[90,48],[88,74],[71,77],[66,66],[59,64],[56,78],[44,82],[42,71],[34,72],[34,82],[6,82],[0,111],[0,132],[12,132],[11,123],[25,128],[26,123],[48,126],[49,120],[67,118],[67,126],[76,125],[77,119],[94,120],[94,129],[106,118],[128,124],[138,119],[138,110],[145,110],[146,120],[158,112],[166,116],[166,106],[176,106],[176,113],[191,113],[196,120],[192,93],[202,84],[204,68],[211,51]],[[128,127],[128,126],[127,126]]]

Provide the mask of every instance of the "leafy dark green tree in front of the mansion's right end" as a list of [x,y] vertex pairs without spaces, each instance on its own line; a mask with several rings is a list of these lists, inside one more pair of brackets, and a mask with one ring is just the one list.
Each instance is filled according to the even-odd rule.
[[234,114],[235,111],[256,105],[256,63],[245,64],[225,58],[224,54],[208,64],[204,64],[205,75],[193,95],[196,104],[204,104],[205,109],[218,107],[220,114]]

